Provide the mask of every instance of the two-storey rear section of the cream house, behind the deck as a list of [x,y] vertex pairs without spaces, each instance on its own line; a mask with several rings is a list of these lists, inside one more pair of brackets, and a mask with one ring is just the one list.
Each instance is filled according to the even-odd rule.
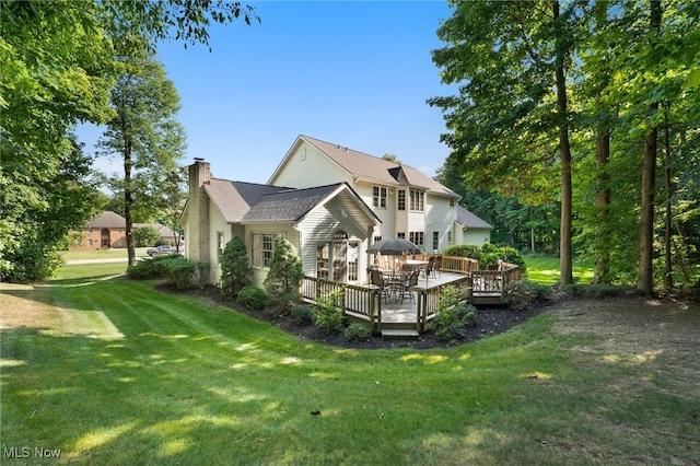
[[373,242],[402,237],[439,253],[453,244],[490,241],[491,226],[424,173],[308,136],[296,138],[268,184],[307,188],[339,182],[352,187],[381,220]]

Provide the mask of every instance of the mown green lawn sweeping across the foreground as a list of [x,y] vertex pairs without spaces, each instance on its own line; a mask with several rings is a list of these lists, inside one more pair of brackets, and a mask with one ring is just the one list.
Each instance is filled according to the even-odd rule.
[[451,349],[348,350],[122,269],[2,284],[3,459],[26,447],[31,464],[58,450],[85,465],[692,464],[700,451],[700,411],[677,381],[578,350],[596,337],[556,331],[552,316]]

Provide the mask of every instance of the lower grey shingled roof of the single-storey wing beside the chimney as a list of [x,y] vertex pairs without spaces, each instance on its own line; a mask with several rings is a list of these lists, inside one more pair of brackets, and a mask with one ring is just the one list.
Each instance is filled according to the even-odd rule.
[[378,218],[346,183],[296,189],[212,178],[205,190],[229,223],[296,222],[328,197],[348,189],[368,215]]

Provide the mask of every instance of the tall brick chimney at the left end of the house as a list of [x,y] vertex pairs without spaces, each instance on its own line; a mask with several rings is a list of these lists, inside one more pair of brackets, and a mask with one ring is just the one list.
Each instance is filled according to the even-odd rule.
[[209,257],[209,196],[205,185],[211,180],[211,165],[203,159],[195,158],[189,165],[189,200],[186,225],[187,258],[210,261]]

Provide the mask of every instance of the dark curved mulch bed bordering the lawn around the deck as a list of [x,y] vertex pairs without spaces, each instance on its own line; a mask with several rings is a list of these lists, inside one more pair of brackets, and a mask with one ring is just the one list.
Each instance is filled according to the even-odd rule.
[[[172,293],[172,288],[167,284],[158,286],[156,289],[162,292]],[[315,325],[296,325],[294,321],[287,315],[279,315],[270,310],[255,311],[240,306],[234,300],[222,300],[219,290],[215,287],[209,286],[203,290],[188,290],[184,292],[186,294],[200,295],[208,298],[211,301],[226,306],[235,312],[246,314],[258,321],[267,322],[270,325],[278,327],[281,330],[287,331],[302,340],[317,341],[324,345],[329,345],[339,348],[355,348],[355,349],[380,349],[380,348],[447,348],[457,345],[463,345],[469,341],[476,341],[483,337],[501,334],[515,325],[522,324],[529,318],[539,314],[542,310],[541,306],[533,307],[527,311],[511,311],[501,306],[479,306],[477,311],[477,323],[474,327],[468,327],[466,335],[458,340],[440,341],[435,338],[432,331],[427,331],[420,336],[418,340],[383,340],[381,336],[373,336],[362,341],[348,341],[345,339],[342,333],[334,335],[325,335],[318,331]]]

